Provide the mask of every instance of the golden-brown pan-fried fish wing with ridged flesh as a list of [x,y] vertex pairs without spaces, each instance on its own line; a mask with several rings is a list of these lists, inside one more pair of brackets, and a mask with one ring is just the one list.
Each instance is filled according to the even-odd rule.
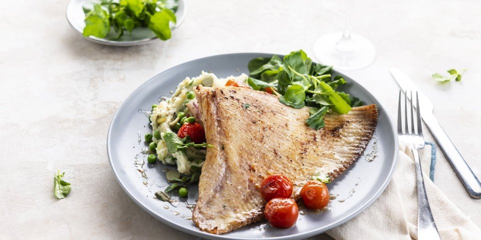
[[207,149],[192,220],[216,234],[264,217],[259,188],[270,174],[292,180],[293,198],[316,173],[338,176],[362,154],[377,123],[376,105],[327,114],[326,126],[315,130],[305,123],[307,107],[289,107],[263,91],[197,86],[195,94],[214,147]]

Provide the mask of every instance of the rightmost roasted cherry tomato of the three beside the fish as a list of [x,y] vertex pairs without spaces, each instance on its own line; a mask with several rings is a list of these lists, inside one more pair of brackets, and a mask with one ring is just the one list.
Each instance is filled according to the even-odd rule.
[[311,209],[320,209],[329,204],[329,190],[321,181],[308,181],[301,189],[304,205]]

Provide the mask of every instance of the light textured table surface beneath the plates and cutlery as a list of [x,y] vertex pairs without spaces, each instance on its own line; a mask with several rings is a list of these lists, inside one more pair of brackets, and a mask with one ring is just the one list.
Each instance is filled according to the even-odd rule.
[[[343,1],[187,0],[172,39],[110,47],[82,39],[65,17],[67,0],[5,1],[0,7],[0,238],[189,239],[152,218],[121,189],[108,163],[107,130],[120,103],[153,75],[219,53],[288,53],[339,31]],[[358,0],[353,31],[377,49],[369,67],[346,71],[396,116],[408,73],[433,103],[459,151],[481,177],[481,2]],[[460,82],[434,72],[468,68]],[[428,140],[432,139],[427,136]],[[481,226],[481,200],[468,197],[442,152],[436,185]],[[53,195],[60,168],[73,189]]]

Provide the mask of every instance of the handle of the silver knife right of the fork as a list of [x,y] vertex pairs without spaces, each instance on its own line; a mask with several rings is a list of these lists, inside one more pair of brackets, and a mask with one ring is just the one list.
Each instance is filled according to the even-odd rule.
[[469,195],[472,198],[481,198],[481,182],[479,182],[476,175],[474,175],[471,168],[454,146],[451,139],[449,139],[446,132],[442,129],[437,119],[434,115],[431,115],[423,117],[423,120]]

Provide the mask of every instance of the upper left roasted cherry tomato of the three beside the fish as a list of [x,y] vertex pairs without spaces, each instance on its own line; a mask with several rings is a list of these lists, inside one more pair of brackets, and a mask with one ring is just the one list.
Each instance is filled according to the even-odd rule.
[[292,182],[289,178],[277,174],[266,177],[261,183],[261,195],[269,201],[274,197],[291,197]]

